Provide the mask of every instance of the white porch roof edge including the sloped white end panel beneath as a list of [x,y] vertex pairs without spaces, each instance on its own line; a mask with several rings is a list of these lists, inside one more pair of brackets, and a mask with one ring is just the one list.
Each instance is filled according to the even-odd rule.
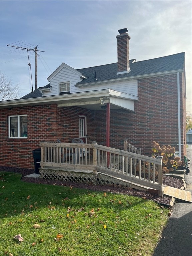
[[[97,91],[88,91],[81,93],[71,93],[65,95],[55,95],[46,97],[37,97],[30,99],[17,99],[1,101],[0,108],[13,108],[24,106],[35,106],[45,104],[58,104],[58,107],[82,107],[91,110],[102,110],[100,98],[105,103],[110,103],[111,109],[123,108],[134,111],[134,101],[138,100],[137,96],[122,93],[119,91],[105,89]],[[104,105],[105,105],[104,103]]]

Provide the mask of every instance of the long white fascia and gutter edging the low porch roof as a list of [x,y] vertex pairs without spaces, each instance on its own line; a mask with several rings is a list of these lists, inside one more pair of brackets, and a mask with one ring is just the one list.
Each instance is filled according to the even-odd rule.
[[30,98],[30,99],[17,99],[17,100],[8,100],[1,101],[0,108],[9,108],[9,107],[21,107],[21,106],[30,106],[30,105],[43,105],[43,104],[62,104],[66,100],[83,100],[86,98],[101,98],[101,97],[119,97],[123,99],[129,100],[138,100],[137,96],[130,95],[127,93],[118,92],[111,89],[98,90],[98,91],[90,91],[90,92],[80,92],[80,93],[71,93],[71,94],[63,94],[63,95],[55,95],[55,96],[44,96],[38,98]]

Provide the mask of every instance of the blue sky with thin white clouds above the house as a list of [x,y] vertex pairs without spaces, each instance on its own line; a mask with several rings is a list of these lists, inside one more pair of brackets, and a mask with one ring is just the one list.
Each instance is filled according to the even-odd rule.
[[[191,1],[0,1],[1,71],[22,95],[31,91],[27,51],[38,45],[37,85],[63,62],[77,69],[117,62],[118,29],[127,27],[130,58],[137,61],[185,52],[187,111],[192,113]],[[24,44],[25,44],[24,43]],[[35,86],[35,55],[30,63]]]

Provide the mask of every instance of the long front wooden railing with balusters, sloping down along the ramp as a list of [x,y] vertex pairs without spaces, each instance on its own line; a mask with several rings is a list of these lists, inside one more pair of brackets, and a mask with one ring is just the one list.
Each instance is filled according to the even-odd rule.
[[41,168],[89,169],[150,187],[162,196],[162,161],[98,144],[41,142]]

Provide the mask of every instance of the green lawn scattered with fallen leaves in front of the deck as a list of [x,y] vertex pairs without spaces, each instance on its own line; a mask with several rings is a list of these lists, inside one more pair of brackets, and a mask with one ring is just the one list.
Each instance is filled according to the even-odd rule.
[[169,210],[143,198],[20,178],[0,172],[0,255],[150,256],[167,222]]

